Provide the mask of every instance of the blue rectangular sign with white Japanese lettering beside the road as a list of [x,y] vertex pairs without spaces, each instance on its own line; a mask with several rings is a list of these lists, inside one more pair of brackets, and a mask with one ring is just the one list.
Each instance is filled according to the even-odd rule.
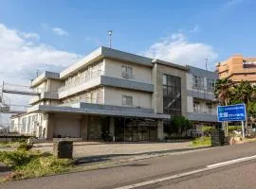
[[246,121],[247,112],[245,104],[218,106],[218,121]]

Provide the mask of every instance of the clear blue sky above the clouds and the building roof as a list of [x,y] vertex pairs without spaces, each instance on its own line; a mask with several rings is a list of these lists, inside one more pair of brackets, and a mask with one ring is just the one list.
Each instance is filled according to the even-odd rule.
[[[114,31],[114,48],[133,53],[178,31],[190,43],[211,45],[216,60],[255,52],[253,0],[1,0],[0,5],[0,22],[5,26],[37,33],[41,43],[81,55],[107,45],[108,29]],[[60,27],[68,35],[58,37],[44,26]]]

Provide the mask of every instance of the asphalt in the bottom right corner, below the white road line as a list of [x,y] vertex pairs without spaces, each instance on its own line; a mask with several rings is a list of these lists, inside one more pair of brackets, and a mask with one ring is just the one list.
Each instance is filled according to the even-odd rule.
[[255,189],[255,176],[256,162],[254,161],[195,174],[181,180],[158,182],[139,189]]

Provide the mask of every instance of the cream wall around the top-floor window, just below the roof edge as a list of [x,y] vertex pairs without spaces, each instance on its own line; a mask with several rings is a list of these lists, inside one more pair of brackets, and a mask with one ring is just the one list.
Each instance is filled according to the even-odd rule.
[[120,60],[110,60],[104,59],[105,64],[105,76],[107,77],[118,77],[122,78],[122,66],[128,66],[133,68],[133,78],[129,78],[129,80],[134,80],[138,82],[144,83],[152,83],[151,76],[151,67],[138,65],[135,63],[130,63],[126,61]]

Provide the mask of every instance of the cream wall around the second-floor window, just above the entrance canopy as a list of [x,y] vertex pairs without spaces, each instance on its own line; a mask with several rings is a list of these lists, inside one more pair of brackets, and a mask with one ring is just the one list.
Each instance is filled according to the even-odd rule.
[[140,106],[141,108],[152,108],[151,93],[143,93],[137,91],[131,91],[127,89],[119,89],[112,87],[104,87],[104,104],[114,106],[122,105],[122,95],[133,96],[133,107]]

